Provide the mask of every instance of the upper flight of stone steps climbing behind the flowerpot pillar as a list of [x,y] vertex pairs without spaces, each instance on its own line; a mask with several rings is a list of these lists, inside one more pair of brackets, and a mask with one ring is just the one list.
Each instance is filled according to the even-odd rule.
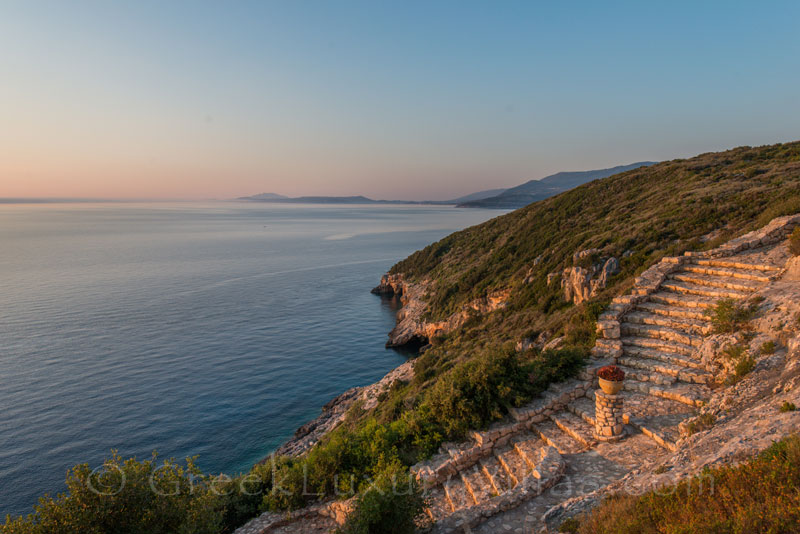
[[610,355],[626,373],[626,422],[659,445],[677,450],[678,425],[711,396],[713,376],[698,353],[711,333],[708,309],[722,299],[746,299],[779,274],[779,267],[758,260],[764,252],[667,258],[659,283],[638,298],[615,299],[601,317],[618,324],[618,332],[601,326],[614,343],[600,340],[599,347],[611,346]]

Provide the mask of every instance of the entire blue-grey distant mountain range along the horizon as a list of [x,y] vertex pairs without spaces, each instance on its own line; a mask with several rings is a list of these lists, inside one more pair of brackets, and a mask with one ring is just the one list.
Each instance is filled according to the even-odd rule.
[[277,193],[261,193],[249,197],[240,197],[237,200],[252,202],[279,202],[289,204],[433,204],[442,206],[458,206],[461,208],[497,208],[516,209],[527,206],[531,202],[543,200],[547,197],[578,187],[586,182],[606,178],[612,174],[629,171],[639,167],[653,165],[654,161],[640,161],[630,165],[620,165],[610,169],[599,169],[581,172],[559,172],[541,180],[530,180],[522,185],[510,189],[489,189],[479,191],[453,200],[373,200],[365,196],[326,197],[305,196],[287,197]]

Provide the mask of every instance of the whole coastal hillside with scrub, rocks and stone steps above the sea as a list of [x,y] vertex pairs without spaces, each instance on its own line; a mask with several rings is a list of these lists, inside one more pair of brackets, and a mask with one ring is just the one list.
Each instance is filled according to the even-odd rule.
[[[525,531],[531,517],[585,530],[594,519],[583,514],[623,484],[674,483],[744,460],[800,430],[791,408],[800,404],[800,261],[785,239],[800,216],[773,221],[790,214],[800,214],[800,142],[629,170],[452,234],[376,288],[402,298],[398,327],[420,355],[329,402],[296,446],[226,480],[222,496],[209,483],[156,511],[141,501],[134,515],[172,521],[163,531],[203,521],[184,531],[210,534],[262,512],[238,532],[322,533],[346,517],[344,532],[411,532],[426,517],[434,532]],[[731,248],[734,238],[747,247]],[[720,324],[727,330],[711,335]],[[624,417],[595,411],[598,368],[610,362],[625,369]],[[601,423],[624,423],[627,437],[600,439]],[[144,481],[153,464],[114,457],[107,468],[98,476],[109,480],[94,483],[115,487],[119,472]],[[140,502],[144,482],[109,504],[85,490],[88,471],[78,466],[70,496],[3,532],[48,532],[64,517],[89,531]],[[166,471],[164,487],[188,484],[187,473],[197,476],[191,463]],[[373,480],[411,490],[380,497]],[[796,486],[781,491],[776,498]],[[741,508],[759,509],[751,505]]]

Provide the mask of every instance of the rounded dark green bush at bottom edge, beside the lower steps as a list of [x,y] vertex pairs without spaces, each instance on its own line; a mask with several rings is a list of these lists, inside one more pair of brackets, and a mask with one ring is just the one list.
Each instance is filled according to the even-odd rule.
[[337,534],[413,534],[424,505],[414,476],[393,465],[356,498]]

